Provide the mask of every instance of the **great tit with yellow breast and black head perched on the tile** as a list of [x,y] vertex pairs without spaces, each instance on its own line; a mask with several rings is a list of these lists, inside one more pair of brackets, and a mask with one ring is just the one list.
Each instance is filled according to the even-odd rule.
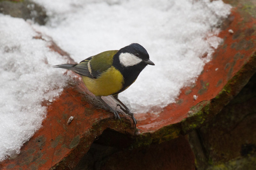
[[119,102],[117,106],[137,124],[133,113],[119,99],[118,94],[127,89],[147,65],[155,65],[149,60],[147,50],[138,43],[132,43],[120,50],[105,51],[93,55],[79,64],[62,64],[54,67],[72,70],[82,76],[85,86],[100,100],[115,118],[120,119],[118,112],[111,108],[101,96],[112,95]]

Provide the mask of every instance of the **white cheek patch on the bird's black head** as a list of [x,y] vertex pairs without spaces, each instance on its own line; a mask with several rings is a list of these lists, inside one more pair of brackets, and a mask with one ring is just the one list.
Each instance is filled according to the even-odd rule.
[[119,55],[119,60],[120,60],[120,63],[125,67],[133,66],[142,62],[141,58],[138,58],[131,53],[121,53]]

